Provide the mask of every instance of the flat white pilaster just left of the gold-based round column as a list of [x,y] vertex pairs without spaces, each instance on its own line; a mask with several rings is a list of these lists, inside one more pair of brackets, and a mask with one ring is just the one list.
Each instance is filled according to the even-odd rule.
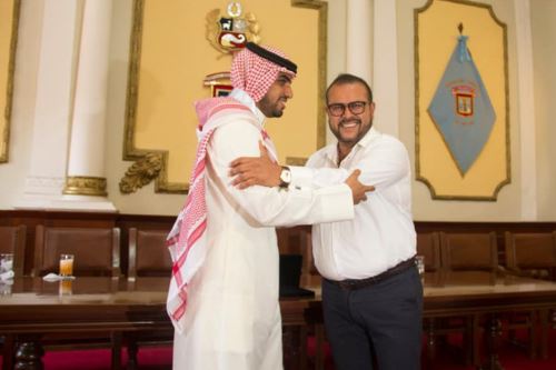
[[42,6],[33,8],[42,11],[42,24],[36,101],[29,107],[34,109],[32,151],[23,196],[14,208],[56,208],[66,179],[77,2],[44,0]]

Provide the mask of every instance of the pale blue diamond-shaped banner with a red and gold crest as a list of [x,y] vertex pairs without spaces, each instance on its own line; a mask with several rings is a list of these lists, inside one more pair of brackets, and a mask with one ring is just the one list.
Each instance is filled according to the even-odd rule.
[[496,120],[490,98],[467,49],[467,36],[458,37],[428,113],[465,176],[488,141]]

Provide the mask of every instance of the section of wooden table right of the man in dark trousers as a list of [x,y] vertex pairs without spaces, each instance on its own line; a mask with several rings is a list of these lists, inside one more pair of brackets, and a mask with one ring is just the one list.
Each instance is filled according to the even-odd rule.
[[[425,320],[471,317],[475,322],[485,322],[487,359],[484,362],[475,359],[474,364],[480,369],[503,369],[498,360],[500,318],[507,312],[535,312],[542,318],[542,337],[546,338],[548,311],[556,308],[556,283],[509,273],[440,272],[426,274],[424,298]],[[435,344],[434,339],[430,344]],[[546,357],[546,349],[542,354]]]

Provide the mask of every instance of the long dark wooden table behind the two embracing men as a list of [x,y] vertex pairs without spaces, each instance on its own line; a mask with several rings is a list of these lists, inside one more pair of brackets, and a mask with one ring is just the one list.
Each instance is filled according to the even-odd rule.
[[[133,331],[163,332],[171,329],[166,313],[167,278],[125,279],[78,278],[68,282],[41,279],[17,279],[11,291],[0,296],[0,334],[7,347],[17,343],[17,364],[41,369],[41,337],[46,333]],[[448,273],[425,277],[424,317],[441,318],[475,314],[489,319],[490,340],[484,368],[502,369],[497,356],[499,331],[497,314],[508,311],[537,310],[546,317],[556,308],[556,283],[490,273]],[[312,299],[281,299],[285,334],[285,367],[307,366],[305,339],[307,328],[324,338],[320,293]],[[317,351],[321,346],[317,346]],[[119,353],[119,351],[117,351]],[[119,367],[119,354],[113,368]],[[321,354],[321,352],[320,352]],[[317,368],[322,361],[317,356]],[[8,361],[9,362],[9,361]],[[4,369],[10,368],[4,359]]]

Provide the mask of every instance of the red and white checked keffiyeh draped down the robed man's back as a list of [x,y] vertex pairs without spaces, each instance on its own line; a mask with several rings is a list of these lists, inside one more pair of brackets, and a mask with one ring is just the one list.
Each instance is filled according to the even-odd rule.
[[[281,52],[270,48],[267,50],[285,58]],[[270,86],[282,71],[295,76],[284,67],[244,49],[238,52],[231,64],[231,83],[234,88],[246,91],[256,102],[262,99]],[[182,332],[181,320],[186,312],[188,300],[188,284],[199,270],[207,254],[207,203],[205,169],[207,163],[207,144],[214,131],[218,128],[214,120],[216,114],[225,111],[249,110],[249,108],[232,98],[212,98],[196,103],[199,126],[197,137],[197,157],[189,181],[189,196],[179,213],[167,244],[173,261],[172,277],[168,292],[167,310],[178,332]],[[221,120],[218,120],[221,122]],[[274,149],[266,131],[261,130],[261,138],[267,146]],[[274,151],[274,150],[271,150]],[[276,151],[274,151],[276,153]]]

